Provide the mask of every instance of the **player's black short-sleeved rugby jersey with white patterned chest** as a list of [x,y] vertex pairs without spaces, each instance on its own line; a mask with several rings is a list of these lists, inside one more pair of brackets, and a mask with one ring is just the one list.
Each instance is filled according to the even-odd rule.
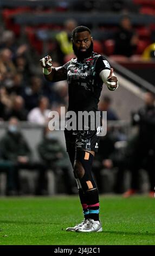
[[68,111],[97,111],[103,81],[99,74],[111,69],[107,60],[98,53],[79,62],[71,59],[61,68],[68,81]]

